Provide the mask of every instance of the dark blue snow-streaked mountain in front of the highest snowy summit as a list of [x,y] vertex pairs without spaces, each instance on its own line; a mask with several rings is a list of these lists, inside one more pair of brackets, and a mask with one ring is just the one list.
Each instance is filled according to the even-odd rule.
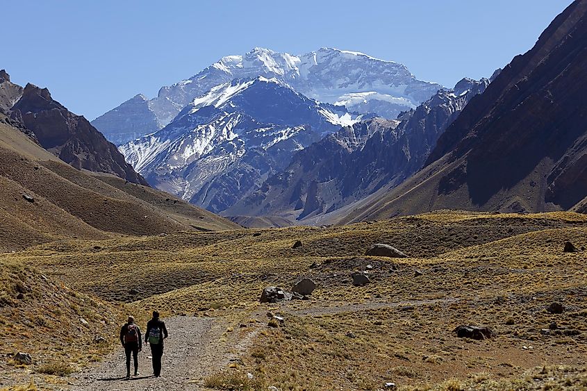
[[120,151],[151,185],[217,213],[258,190],[295,151],[353,122],[344,108],[261,76],[213,88]]

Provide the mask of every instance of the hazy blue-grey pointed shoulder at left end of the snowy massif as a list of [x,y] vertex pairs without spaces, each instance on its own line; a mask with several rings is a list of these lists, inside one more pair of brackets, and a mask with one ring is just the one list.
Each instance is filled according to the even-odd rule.
[[[123,123],[119,122],[120,113],[124,113],[126,117]],[[110,142],[116,145],[125,144],[163,128],[151,109],[151,103],[141,94],[97,117],[92,121],[92,126],[98,128]]]

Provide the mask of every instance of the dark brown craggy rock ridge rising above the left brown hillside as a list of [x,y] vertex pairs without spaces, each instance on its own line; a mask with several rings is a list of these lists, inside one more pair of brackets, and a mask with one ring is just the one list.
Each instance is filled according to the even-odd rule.
[[90,125],[57,101],[47,88],[27,84],[12,113],[22,119],[42,147],[78,169],[115,174],[127,181],[146,185],[116,147]]

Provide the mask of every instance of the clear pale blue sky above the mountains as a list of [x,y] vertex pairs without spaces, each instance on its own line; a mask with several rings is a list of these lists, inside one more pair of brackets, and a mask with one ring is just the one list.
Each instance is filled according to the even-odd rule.
[[571,0],[17,0],[2,4],[0,69],[94,119],[222,56],[320,47],[404,63],[452,87],[530,49]]

